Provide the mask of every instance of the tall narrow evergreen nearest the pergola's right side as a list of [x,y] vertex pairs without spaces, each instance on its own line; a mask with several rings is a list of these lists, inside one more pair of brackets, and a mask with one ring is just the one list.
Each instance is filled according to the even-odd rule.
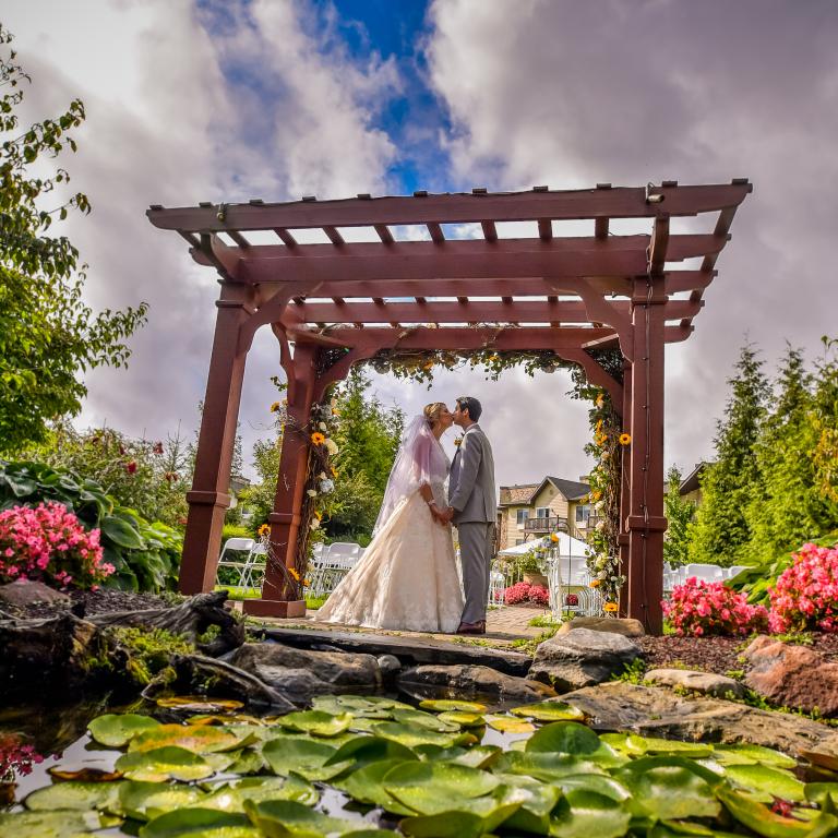
[[745,344],[728,380],[731,388],[725,417],[716,430],[716,463],[702,479],[690,561],[732,565],[743,560],[751,540],[746,510],[759,490],[756,441],[765,415],[768,382],[763,361],[752,345]]

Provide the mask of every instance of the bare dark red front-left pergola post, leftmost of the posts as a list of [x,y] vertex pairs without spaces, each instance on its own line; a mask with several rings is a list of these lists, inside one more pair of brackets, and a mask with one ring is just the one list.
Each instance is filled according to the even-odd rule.
[[183,539],[181,594],[210,591],[215,586],[224,514],[230,505],[230,465],[239,418],[247,350],[239,348],[239,328],[253,310],[249,288],[224,284],[216,301],[213,354],[206,380],[201,432],[197,438],[189,515]]

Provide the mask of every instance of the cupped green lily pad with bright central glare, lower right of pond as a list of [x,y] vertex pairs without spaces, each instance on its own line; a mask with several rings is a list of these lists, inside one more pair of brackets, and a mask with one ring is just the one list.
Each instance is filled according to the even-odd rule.
[[[614,777],[632,793],[627,806],[638,817],[675,821],[716,817],[720,806],[710,785],[695,766],[680,757],[644,757],[619,769]],[[718,781],[714,777],[714,781]]]

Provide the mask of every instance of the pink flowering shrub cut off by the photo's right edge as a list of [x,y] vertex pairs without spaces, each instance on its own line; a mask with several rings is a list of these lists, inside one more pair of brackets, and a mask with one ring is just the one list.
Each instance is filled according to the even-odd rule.
[[838,632],[838,547],[803,544],[768,596],[773,632]]

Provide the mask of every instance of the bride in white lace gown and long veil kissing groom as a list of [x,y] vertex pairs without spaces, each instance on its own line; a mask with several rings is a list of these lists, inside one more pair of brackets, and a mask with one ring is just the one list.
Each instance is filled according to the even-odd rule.
[[451,463],[440,436],[454,423],[442,402],[427,405],[405,431],[390,472],[373,539],[316,619],[370,628],[453,633],[463,590],[446,507]]

